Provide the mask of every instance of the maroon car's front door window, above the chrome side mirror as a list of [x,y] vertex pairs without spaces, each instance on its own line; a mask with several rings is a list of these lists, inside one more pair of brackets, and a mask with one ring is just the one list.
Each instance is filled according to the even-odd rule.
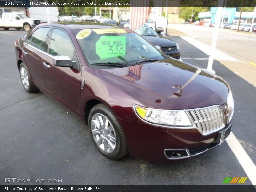
[[69,56],[71,59],[76,59],[76,53],[68,35],[59,29],[53,29],[49,44],[49,54],[52,56]]

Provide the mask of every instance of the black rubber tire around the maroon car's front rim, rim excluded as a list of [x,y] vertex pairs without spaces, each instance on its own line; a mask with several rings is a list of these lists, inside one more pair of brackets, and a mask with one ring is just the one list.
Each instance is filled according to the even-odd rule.
[[[92,129],[91,129],[91,122],[92,122],[92,116],[96,113],[101,113],[104,116],[106,116],[108,118],[108,120],[111,122],[113,129],[115,131],[115,135],[116,135],[116,148],[112,153],[106,153],[104,151],[102,151],[102,149],[97,145],[96,141],[93,138],[92,135]],[[120,140],[120,129],[121,126],[118,122],[118,120],[116,119],[115,116],[113,116],[111,113],[109,114],[108,111],[105,111],[101,106],[95,106],[92,108],[92,110],[90,111],[89,114],[89,129],[90,129],[90,135],[92,137],[92,141],[94,143],[94,145],[96,146],[96,148],[100,151],[101,154],[103,154],[104,156],[108,157],[109,159],[118,159],[119,154],[121,152],[121,140]]]

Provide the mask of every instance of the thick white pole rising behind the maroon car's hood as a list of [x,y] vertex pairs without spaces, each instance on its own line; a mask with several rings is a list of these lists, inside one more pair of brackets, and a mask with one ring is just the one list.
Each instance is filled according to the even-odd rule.
[[[215,23],[220,23],[223,1],[224,0],[218,1],[218,9],[217,9],[216,16],[215,16]],[[215,27],[214,31],[213,31],[213,35],[212,35],[211,54],[209,55],[208,65],[207,65],[207,71],[209,71],[213,74],[215,74],[215,71],[212,70],[212,64],[213,64],[213,59],[214,59],[213,57],[214,57],[216,44],[217,44],[218,32],[219,32],[219,28]]]

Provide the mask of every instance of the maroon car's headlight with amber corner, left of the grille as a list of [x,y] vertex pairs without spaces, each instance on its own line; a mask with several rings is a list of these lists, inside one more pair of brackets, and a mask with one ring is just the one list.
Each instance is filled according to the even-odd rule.
[[161,110],[133,105],[133,110],[142,120],[156,125],[191,127],[192,124],[182,110]]

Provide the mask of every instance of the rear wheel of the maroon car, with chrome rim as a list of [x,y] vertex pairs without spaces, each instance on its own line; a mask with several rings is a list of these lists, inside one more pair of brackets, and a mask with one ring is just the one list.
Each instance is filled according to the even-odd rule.
[[34,93],[38,91],[31,79],[28,68],[26,65],[24,65],[24,63],[20,64],[20,80],[26,92]]

